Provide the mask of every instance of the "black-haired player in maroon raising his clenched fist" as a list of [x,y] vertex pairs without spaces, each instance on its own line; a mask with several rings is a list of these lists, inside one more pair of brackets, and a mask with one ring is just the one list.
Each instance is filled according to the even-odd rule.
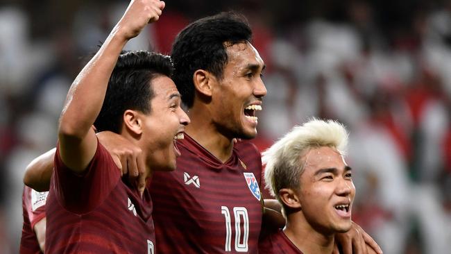
[[162,1],[130,1],[71,85],[46,203],[46,253],[155,252],[151,196],[121,180],[92,125],[119,133],[142,149],[146,178],[153,171],[176,168],[180,152],[173,139],[183,136],[189,118],[169,78],[171,60],[147,51],[121,53],[163,8]]

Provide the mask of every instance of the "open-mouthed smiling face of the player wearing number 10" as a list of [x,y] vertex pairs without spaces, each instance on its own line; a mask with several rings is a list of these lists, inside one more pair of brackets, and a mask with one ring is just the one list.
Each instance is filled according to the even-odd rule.
[[262,110],[266,87],[262,81],[264,62],[248,42],[226,44],[228,62],[223,78],[212,90],[212,118],[227,137],[251,139],[257,135],[256,110]]

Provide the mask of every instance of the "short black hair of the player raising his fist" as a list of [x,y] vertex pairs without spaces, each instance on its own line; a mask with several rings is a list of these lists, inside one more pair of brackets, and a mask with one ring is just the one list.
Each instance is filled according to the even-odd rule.
[[151,81],[157,76],[171,77],[173,65],[169,56],[151,51],[122,51],[114,67],[105,99],[94,126],[97,131],[121,131],[126,110],[151,112],[154,93]]

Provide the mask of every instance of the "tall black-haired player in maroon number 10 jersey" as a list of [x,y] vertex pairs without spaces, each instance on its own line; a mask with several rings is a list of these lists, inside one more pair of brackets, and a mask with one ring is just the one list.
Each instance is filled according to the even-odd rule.
[[173,80],[192,124],[177,170],[155,172],[150,186],[162,253],[257,252],[271,211],[259,192],[261,158],[253,144],[233,142],[257,135],[266,94],[251,35],[243,17],[222,13],[189,24],[173,44]]

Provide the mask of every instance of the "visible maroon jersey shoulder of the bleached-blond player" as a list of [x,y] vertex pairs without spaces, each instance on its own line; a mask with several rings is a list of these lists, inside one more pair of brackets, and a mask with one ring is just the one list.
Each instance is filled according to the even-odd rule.
[[303,254],[291,241],[282,230],[269,235],[259,242],[258,250],[260,254]]

